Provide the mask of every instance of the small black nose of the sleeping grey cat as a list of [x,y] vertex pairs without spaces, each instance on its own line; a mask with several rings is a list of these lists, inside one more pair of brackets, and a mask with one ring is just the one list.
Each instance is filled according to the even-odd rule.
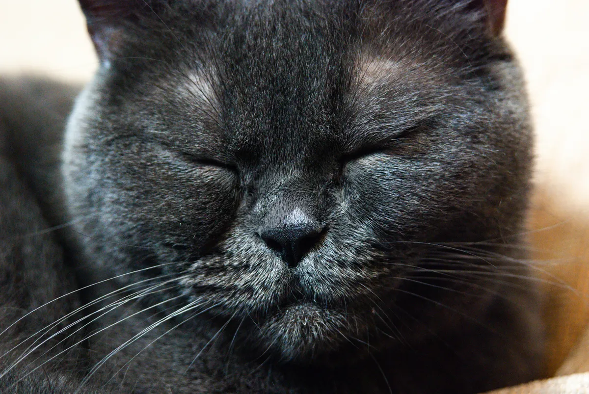
[[263,230],[260,234],[266,245],[276,251],[290,267],[299,264],[320,236],[321,230],[312,226],[279,227]]

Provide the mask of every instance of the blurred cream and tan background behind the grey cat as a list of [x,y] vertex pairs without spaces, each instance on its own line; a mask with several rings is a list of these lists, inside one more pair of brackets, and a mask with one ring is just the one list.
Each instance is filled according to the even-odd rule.
[[[552,284],[547,373],[589,316],[588,21],[587,0],[509,0],[505,35],[525,70],[537,134],[530,238],[538,272]],[[77,1],[0,0],[0,74],[83,82],[95,68]]]

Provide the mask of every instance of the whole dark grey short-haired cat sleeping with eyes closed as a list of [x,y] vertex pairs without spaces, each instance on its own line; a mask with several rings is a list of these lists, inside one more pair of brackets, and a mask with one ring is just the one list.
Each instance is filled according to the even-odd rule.
[[80,4],[65,134],[75,88],[2,82],[2,392],[538,377],[505,1]]

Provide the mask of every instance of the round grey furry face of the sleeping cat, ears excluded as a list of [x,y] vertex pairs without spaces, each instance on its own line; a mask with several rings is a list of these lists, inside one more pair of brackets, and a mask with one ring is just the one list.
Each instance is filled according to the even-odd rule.
[[110,27],[64,167],[88,255],[163,264],[142,275],[284,359],[445,318],[411,294],[477,310],[491,284],[423,277],[519,230],[517,69],[480,10],[392,3],[180,2]]

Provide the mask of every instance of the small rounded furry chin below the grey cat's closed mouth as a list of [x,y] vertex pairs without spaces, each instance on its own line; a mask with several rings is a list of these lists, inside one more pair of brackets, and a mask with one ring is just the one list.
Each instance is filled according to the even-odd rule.
[[312,359],[348,341],[350,316],[316,303],[291,304],[260,325],[262,341],[283,361]]

